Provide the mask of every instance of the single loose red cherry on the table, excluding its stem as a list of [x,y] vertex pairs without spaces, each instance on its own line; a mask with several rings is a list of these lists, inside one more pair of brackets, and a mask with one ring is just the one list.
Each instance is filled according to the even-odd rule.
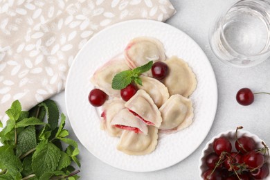
[[248,106],[254,101],[254,95],[251,89],[242,88],[236,94],[236,100],[240,105]]

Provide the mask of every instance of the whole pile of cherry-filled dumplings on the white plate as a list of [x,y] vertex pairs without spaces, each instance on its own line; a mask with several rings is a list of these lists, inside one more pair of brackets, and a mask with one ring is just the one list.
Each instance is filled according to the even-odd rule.
[[[162,61],[169,73],[161,81],[152,78],[151,70],[140,76],[142,86],[127,102],[120,98],[120,90],[112,89],[114,76],[149,61]],[[158,133],[179,132],[192,124],[193,107],[188,98],[195,91],[197,80],[192,69],[177,56],[165,56],[163,44],[153,37],[136,37],[125,51],[96,70],[91,78],[95,87],[109,96],[102,106],[100,127],[109,136],[120,137],[117,150],[129,155],[153,152]],[[135,127],[136,133],[118,126]]]

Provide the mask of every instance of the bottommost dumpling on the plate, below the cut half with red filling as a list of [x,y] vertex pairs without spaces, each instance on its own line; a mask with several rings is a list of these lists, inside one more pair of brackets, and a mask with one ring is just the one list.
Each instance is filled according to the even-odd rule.
[[145,155],[156,149],[158,129],[148,126],[148,134],[134,133],[125,130],[120,137],[117,150],[129,155]]

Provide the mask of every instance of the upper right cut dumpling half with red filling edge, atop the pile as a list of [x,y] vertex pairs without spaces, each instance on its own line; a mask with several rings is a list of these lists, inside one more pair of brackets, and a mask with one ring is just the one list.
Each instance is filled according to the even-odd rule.
[[132,98],[125,102],[125,107],[147,125],[154,125],[155,127],[161,125],[161,112],[143,89],[139,89]]

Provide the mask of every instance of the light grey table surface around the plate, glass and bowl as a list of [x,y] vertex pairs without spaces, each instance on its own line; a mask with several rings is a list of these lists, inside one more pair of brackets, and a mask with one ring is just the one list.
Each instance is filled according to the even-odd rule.
[[[257,134],[270,145],[270,96],[256,95],[255,101],[248,107],[238,105],[235,94],[242,87],[249,87],[253,91],[270,92],[270,60],[248,69],[239,69],[223,64],[213,54],[208,43],[208,28],[222,8],[235,0],[171,0],[177,13],[166,23],[187,33],[201,46],[215,71],[218,88],[217,113],[213,126],[201,145],[183,161],[170,168],[155,172],[127,172],[103,163],[82,144],[80,147],[81,179],[200,179],[199,156],[201,150],[213,136],[242,125],[245,130]],[[52,99],[60,105],[66,114],[64,91]],[[71,138],[76,138],[69,119],[66,122]],[[196,133],[196,132],[195,132]],[[181,152],[179,152],[181,153]],[[147,163],[147,162],[145,162]]]

